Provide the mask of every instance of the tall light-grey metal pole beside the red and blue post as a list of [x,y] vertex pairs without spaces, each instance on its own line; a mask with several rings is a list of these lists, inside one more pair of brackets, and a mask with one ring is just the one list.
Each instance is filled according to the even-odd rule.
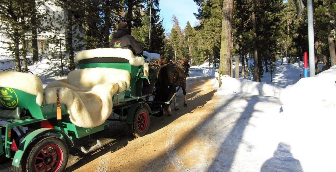
[[308,10],[308,45],[309,45],[309,76],[315,76],[315,49],[312,0],[307,0]]

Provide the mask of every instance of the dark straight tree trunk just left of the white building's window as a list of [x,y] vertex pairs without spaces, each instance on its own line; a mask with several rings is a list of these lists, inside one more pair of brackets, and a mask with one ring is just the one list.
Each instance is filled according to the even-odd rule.
[[31,25],[32,25],[32,53],[33,53],[33,61],[38,61],[38,44],[37,44],[37,23],[36,23],[36,3],[35,1],[31,2],[31,9],[32,9],[32,17],[31,17]]

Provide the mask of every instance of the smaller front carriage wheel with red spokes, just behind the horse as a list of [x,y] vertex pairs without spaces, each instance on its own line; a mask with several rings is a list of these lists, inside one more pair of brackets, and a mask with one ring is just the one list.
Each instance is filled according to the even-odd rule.
[[142,137],[148,132],[150,125],[150,118],[148,110],[144,107],[140,107],[133,119],[133,135],[135,137]]

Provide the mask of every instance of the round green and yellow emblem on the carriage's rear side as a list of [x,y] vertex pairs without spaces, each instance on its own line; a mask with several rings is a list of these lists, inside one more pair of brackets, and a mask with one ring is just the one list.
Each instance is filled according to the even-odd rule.
[[7,108],[15,108],[17,103],[17,95],[13,89],[0,87],[0,104]]

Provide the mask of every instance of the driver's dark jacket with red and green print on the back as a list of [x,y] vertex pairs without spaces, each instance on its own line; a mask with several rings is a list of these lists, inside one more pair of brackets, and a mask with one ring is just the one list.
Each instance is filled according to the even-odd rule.
[[140,43],[128,33],[126,28],[119,28],[112,36],[113,38],[110,41],[111,48],[130,49],[137,55],[143,55],[143,49]]

